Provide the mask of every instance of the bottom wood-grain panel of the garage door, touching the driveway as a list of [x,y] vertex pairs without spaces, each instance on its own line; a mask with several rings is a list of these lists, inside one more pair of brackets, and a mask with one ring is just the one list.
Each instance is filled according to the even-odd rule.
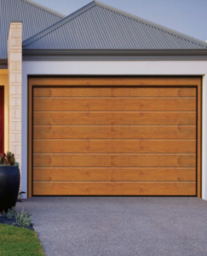
[[196,195],[196,183],[34,183],[34,195]]

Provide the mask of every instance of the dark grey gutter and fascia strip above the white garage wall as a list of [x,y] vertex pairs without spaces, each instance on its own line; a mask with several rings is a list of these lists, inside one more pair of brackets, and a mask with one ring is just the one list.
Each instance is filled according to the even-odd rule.
[[23,49],[23,61],[207,61],[207,49]]

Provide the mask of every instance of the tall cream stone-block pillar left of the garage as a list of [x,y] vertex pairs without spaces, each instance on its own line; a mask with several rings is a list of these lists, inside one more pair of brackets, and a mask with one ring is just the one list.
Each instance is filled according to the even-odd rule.
[[8,37],[9,151],[21,170],[22,23],[11,22]]

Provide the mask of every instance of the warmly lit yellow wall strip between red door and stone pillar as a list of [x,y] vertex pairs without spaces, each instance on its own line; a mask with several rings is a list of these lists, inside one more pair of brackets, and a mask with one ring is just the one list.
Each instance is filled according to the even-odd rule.
[[8,70],[0,69],[0,85],[4,86],[4,152],[9,150],[8,145]]

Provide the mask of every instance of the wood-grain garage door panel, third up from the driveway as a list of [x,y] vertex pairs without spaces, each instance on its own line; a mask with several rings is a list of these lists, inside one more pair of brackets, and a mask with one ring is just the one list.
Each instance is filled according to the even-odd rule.
[[33,154],[34,167],[195,167],[196,154]]

